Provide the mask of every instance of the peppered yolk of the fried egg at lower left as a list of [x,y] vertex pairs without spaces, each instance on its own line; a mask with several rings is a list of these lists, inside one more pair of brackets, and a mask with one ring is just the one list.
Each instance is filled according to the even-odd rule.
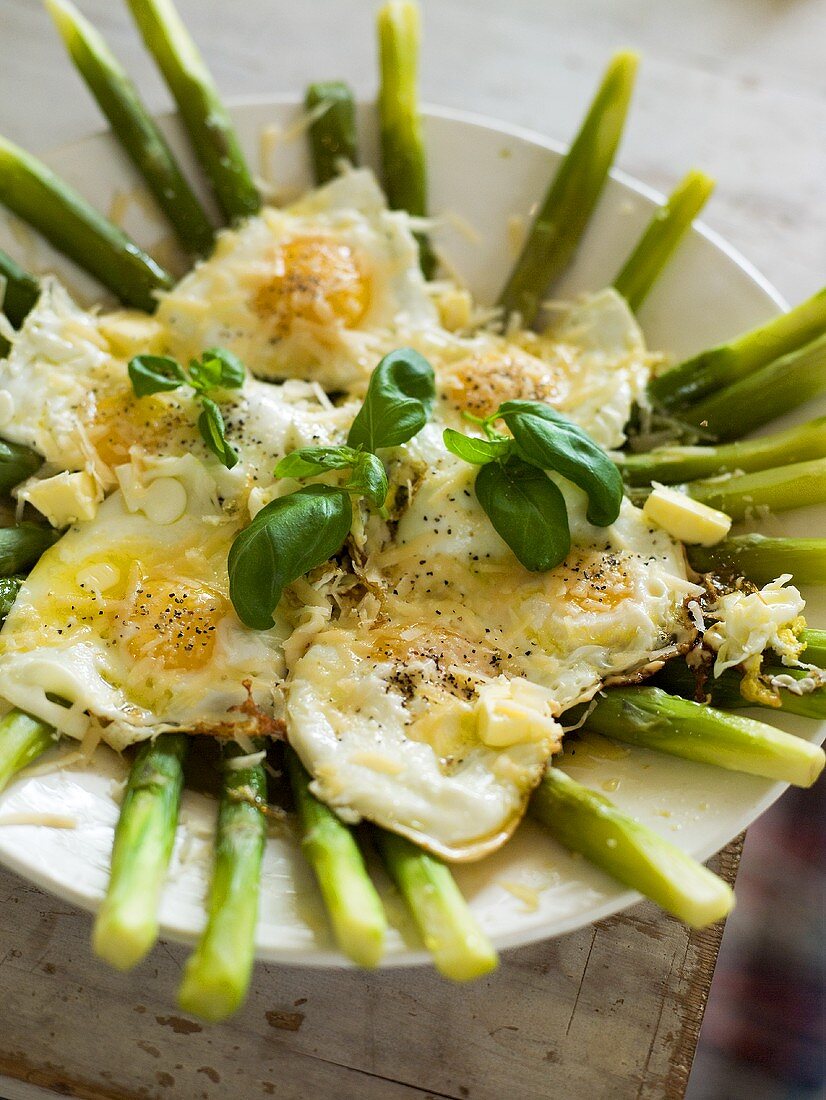
[[198,582],[144,580],[130,616],[129,652],[165,669],[201,668],[212,659],[218,624],[228,613],[225,597]]

